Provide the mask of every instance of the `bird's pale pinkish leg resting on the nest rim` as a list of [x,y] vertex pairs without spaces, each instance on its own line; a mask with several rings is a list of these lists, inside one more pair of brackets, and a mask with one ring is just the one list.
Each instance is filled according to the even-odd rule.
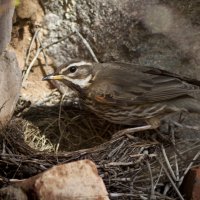
[[145,125],[145,126],[140,126],[140,127],[135,127],[135,128],[127,128],[127,129],[123,129],[121,131],[116,132],[112,136],[112,138],[117,138],[117,137],[121,137],[126,134],[131,134],[131,133],[150,130],[150,129],[153,129],[153,127],[151,125]]

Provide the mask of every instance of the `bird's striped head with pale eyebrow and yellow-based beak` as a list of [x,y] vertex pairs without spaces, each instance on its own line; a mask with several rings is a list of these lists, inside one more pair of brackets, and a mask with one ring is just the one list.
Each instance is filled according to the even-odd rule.
[[75,86],[86,89],[91,84],[93,78],[92,63],[86,61],[70,61],[58,67],[53,74],[47,75],[43,80],[58,80],[69,87]]

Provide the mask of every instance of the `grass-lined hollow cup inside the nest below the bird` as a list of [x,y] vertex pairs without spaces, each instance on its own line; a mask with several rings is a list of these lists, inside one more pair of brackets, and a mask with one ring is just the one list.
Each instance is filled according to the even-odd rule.
[[75,151],[109,140],[121,129],[80,109],[59,106],[32,107],[23,116],[25,140],[37,150]]

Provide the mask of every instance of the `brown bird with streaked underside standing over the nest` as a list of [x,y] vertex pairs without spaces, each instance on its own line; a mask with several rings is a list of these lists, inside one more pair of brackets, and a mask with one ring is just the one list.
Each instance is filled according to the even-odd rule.
[[43,80],[59,80],[78,92],[83,105],[117,124],[145,120],[154,127],[178,111],[200,113],[200,81],[164,70],[126,63],[73,60]]

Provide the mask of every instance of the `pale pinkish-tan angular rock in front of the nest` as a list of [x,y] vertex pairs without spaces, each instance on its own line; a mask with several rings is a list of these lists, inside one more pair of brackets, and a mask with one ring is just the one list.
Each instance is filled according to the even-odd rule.
[[109,199],[103,180],[90,160],[54,166],[15,185],[43,200]]

